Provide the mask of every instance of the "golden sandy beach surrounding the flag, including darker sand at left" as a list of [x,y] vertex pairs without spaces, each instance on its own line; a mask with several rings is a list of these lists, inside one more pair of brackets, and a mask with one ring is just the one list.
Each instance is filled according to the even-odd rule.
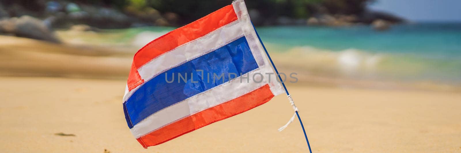
[[[131,135],[122,109],[134,52],[10,36],[0,40],[2,152],[308,151],[298,121],[277,131],[293,114],[284,95],[144,149]],[[288,87],[314,152],[461,151],[459,91]]]

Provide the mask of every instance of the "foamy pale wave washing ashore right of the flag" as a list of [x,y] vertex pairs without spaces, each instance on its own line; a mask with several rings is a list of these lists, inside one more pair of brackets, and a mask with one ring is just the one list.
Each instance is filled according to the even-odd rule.
[[373,80],[461,82],[461,61],[349,48],[332,51],[311,46],[267,45],[277,63],[309,75]]

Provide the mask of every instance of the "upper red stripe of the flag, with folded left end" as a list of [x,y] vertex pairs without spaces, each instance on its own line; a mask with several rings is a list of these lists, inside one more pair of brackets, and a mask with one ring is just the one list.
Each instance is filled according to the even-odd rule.
[[237,20],[237,15],[233,6],[229,5],[151,41],[136,52],[133,58],[133,64],[128,76],[128,90],[131,91],[142,84],[143,80],[137,70],[142,65],[167,51],[200,38],[235,20]]

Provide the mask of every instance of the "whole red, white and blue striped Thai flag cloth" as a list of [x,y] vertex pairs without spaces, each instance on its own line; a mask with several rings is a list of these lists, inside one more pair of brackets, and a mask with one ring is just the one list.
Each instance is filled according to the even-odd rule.
[[143,147],[155,146],[284,93],[276,77],[244,1],[236,0],[136,52],[125,119]]

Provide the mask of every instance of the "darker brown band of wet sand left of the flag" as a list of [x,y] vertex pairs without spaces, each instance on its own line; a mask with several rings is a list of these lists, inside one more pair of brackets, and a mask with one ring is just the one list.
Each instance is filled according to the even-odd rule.
[[133,52],[0,35],[0,76],[126,79]]

